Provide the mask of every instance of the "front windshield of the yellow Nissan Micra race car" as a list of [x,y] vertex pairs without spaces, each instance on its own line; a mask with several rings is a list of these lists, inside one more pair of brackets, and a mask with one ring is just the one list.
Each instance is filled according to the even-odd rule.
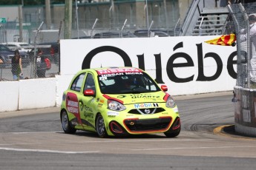
[[103,94],[125,94],[160,91],[159,86],[144,72],[119,72],[98,75]]

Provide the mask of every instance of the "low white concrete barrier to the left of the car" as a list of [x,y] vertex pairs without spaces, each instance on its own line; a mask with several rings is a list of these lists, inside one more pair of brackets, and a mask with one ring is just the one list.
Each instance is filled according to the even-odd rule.
[[0,82],[0,112],[60,106],[73,75]]

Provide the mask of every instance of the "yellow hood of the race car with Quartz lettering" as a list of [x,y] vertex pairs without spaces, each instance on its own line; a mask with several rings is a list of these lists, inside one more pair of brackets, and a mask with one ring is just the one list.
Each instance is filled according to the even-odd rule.
[[162,103],[165,102],[164,97],[167,95],[165,92],[148,92],[139,94],[124,94],[124,95],[108,95],[108,99],[114,99],[123,104],[133,103]]

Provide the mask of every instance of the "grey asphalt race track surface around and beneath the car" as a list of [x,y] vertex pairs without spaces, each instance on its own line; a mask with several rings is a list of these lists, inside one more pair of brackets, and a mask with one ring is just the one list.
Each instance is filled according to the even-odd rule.
[[0,169],[256,169],[256,137],[234,132],[232,92],[174,99],[174,138],[67,135],[57,107],[0,112]]

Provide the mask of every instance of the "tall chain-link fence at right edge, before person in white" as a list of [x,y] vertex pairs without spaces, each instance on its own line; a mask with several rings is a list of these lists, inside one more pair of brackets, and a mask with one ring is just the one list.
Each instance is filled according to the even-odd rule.
[[256,3],[231,4],[226,33],[237,36],[237,86],[256,88]]

